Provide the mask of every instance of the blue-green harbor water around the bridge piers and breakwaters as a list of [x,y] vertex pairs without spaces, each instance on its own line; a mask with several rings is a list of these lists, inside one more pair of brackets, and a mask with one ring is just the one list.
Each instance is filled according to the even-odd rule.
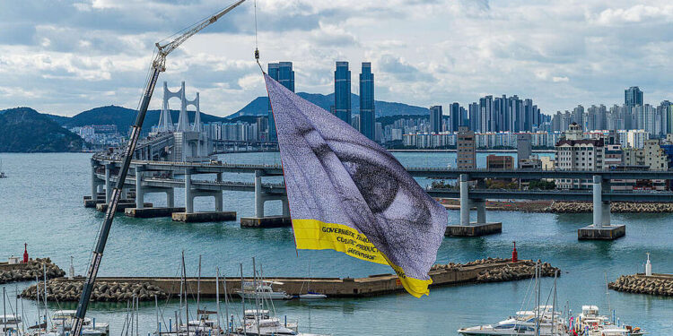
[[[399,152],[407,166],[455,167],[455,153]],[[8,178],[0,179],[0,257],[21,255],[28,243],[32,257],[49,256],[68,270],[74,257],[76,274],[83,274],[102,213],[83,208],[83,195],[90,192],[90,157],[83,153],[0,153]],[[226,154],[227,162],[277,162],[277,153]],[[485,154],[477,155],[484,166]],[[212,177],[195,177],[212,178]],[[224,174],[224,180],[252,182],[249,174]],[[269,179],[271,180],[271,179]],[[426,180],[422,184],[428,183]],[[176,205],[184,204],[182,190]],[[252,193],[225,192],[224,210],[241,216],[254,212]],[[164,194],[149,194],[146,202],[165,204]],[[214,209],[212,198],[197,198],[197,211]],[[280,202],[267,202],[267,214],[281,213]],[[520,259],[541,259],[560,267],[558,297],[573,312],[581,305],[598,305],[602,313],[616,310],[623,323],[641,326],[651,335],[673,333],[673,297],[657,297],[607,290],[606,279],[642,272],[646,253],[651,254],[654,272],[673,272],[673,214],[613,214],[614,223],[626,225],[626,237],[614,242],[578,241],[577,228],[590,224],[591,214],[524,213],[488,211],[487,219],[503,222],[503,233],[489,237],[444,238],[438,263],[466,263],[486,257],[511,256],[516,241]],[[459,212],[450,211],[450,222]],[[387,266],[366,263],[333,251],[297,251],[291,228],[243,229],[237,221],[185,224],[170,219],[140,220],[118,216],[109,236],[101,264],[101,276],[178,276],[179,256],[185,251],[188,275],[196,275],[202,254],[204,276],[214,276],[219,267],[226,276],[237,276],[239,263],[251,272],[251,258],[261,264],[265,276],[363,277],[390,273]],[[543,281],[543,290],[552,280]],[[10,294],[30,283],[4,285]],[[358,299],[328,299],[275,302],[284,315],[300,320],[300,331],[333,335],[457,335],[460,327],[495,323],[522,308],[529,295],[530,281],[489,283],[433,288],[429,297],[407,294]],[[546,295],[543,296],[543,301]],[[11,305],[15,306],[13,300]],[[21,304],[20,304],[21,305]],[[24,300],[25,318],[37,319],[36,306]],[[74,303],[49,303],[53,309],[74,309]],[[163,319],[172,318],[178,303],[162,303]],[[207,300],[202,306],[214,309]],[[194,308],[194,305],[190,305]],[[118,335],[126,317],[125,304],[96,303],[89,316],[110,322]],[[238,309],[232,306],[230,309]],[[196,309],[195,309],[196,310]],[[240,309],[238,309],[240,314]],[[140,310],[140,334],[154,332],[153,303]]]

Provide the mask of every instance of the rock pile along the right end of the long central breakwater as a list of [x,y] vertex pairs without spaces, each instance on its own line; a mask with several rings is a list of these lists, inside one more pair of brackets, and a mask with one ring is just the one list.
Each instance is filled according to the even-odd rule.
[[[499,282],[530,279],[535,276],[535,262],[532,260],[520,260],[518,263],[506,263],[510,259],[503,258],[486,258],[479,259],[469,263],[447,263],[435,264],[432,270],[451,270],[453,268],[462,268],[474,265],[488,265],[494,263],[501,263],[501,265],[494,266],[484,271],[480,271],[476,276],[476,282]],[[543,277],[553,277],[554,273],[561,275],[561,270],[553,267],[549,263],[540,263],[541,275]]]

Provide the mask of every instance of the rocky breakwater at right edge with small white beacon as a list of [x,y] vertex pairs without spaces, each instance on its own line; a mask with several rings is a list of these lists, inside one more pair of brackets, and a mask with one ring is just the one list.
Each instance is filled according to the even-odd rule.
[[607,284],[607,288],[627,293],[673,297],[673,274],[622,275],[615,282]]

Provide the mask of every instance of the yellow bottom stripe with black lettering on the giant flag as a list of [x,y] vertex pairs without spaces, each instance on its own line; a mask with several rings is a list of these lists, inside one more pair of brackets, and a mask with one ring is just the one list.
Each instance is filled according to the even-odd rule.
[[430,293],[428,286],[433,280],[407,277],[402,268],[390,263],[386,255],[380,253],[367,237],[354,228],[320,220],[293,220],[293,229],[298,249],[335,250],[371,263],[390,265],[409,294],[422,297]]

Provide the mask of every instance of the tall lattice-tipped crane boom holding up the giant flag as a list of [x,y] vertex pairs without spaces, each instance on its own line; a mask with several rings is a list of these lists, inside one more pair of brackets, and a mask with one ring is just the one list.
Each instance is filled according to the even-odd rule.
[[89,263],[89,268],[86,272],[86,280],[84,280],[82,297],[80,297],[79,304],[77,305],[77,313],[74,315],[71,335],[79,336],[82,334],[84,316],[86,315],[86,309],[89,306],[89,300],[92,297],[93,284],[96,281],[98,269],[101,266],[103,251],[105,250],[105,244],[108,242],[109,230],[112,227],[112,220],[114,220],[115,213],[117,212],[117,205],[119,198],[121,197],[122,187],[124,186],[124,182],[127,179],[128,167],[131,165],[131,159],[133,158],[133,152],[135,151],[135,144],[138,142],[138,138],[140,137],[144,116],[147,113],[147,108],[150,105],[150,99],[152,99],[154,86],[156,85],[157,79],[159,78],[159,73],[166,71],[166,56],[169,56],[173,50],[178,48],[187,39],[197,34],[197,32],[213,24],[224,14],[231,12],[232,9],[238,7],[244,2],[245,0],[238,0],[229,7],[205,19],[203,22],[197,23],[194,27],[179,35],[179,37],[173,39],[169,43],[164,45],[156,43],[157,53],[153,58],[150,75],[147,78],[147,83],[145,85],[144,93],[138,108],[138,114],[135,117],[135,123],[131,130],[127,147],[124,151],[124,160],[118,172],[117,185],[115,185],[114,189],[112,190],[112,194],[108,202],[108,209],[105,212],[105,217],[103,218],[103,222],[98,233],[98,241],[92,251],[92,260]]

